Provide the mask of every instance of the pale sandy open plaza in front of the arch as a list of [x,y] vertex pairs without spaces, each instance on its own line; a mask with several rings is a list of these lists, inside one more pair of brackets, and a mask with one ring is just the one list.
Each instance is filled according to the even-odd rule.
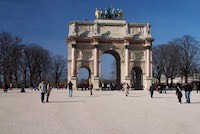
[[[40,92],[0,90],[0,134],[199,134],[200,94],[178,104],[174,91],[53,90],[49,103]],[[183,97],[183,102],[185,97]]]

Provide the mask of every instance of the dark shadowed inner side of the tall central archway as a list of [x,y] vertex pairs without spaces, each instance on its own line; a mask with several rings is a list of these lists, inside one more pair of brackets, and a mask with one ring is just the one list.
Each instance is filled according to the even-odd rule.
[[[113,79],[110,80],[110,82],[114,82],[114,88],[113,89],[117,89],[117,86],[121,83],[121,59],[120,59],[120,55],[118,54],[118,52],[114,51],[114,50],[106,50],[104,51],[101,56],[103,54],[110,54],[114,57],[115,61],[113,63],[113,69],[114,69],[114,75],[115,75],[115,78],[114,78],[114,81]],[[100,61],[100,64],[101,64],[101,61]],[[100,71],[100,74],[101,74],[101,71]]]

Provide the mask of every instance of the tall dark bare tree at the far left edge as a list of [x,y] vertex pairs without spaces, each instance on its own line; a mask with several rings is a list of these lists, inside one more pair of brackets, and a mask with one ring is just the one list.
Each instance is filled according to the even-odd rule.
[[5,84],[11,83],[13,79],[16,85],[18,83],[21,42],[19,37],[12,36],[8,32],[0,34],[0,73]]

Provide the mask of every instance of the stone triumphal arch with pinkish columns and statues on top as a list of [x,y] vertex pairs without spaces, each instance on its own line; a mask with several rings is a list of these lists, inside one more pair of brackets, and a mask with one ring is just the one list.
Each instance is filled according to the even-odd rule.
[[149,23],[127,22],[122,10],[96,9],[95,17],[94,21],[69,23],[68,82],[76,89],[77,71],[84,67],[94,89],[100,89],[100,56],[109,53],[116,59],[117,85],[125,82],[147,90],[152,83],[153,38]]

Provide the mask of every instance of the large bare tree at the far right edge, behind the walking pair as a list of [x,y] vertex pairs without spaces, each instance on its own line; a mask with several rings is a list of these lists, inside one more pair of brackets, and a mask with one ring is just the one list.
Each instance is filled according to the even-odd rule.
[[182,38],[177,38],[174,43],[179,46],[179,69],[182,76],[185,78],[185,82],[188,82],[188,76],[192,73],[192,70],[198,66],[198,60],[200,57],[199,42],[189,35],[185,35]]

